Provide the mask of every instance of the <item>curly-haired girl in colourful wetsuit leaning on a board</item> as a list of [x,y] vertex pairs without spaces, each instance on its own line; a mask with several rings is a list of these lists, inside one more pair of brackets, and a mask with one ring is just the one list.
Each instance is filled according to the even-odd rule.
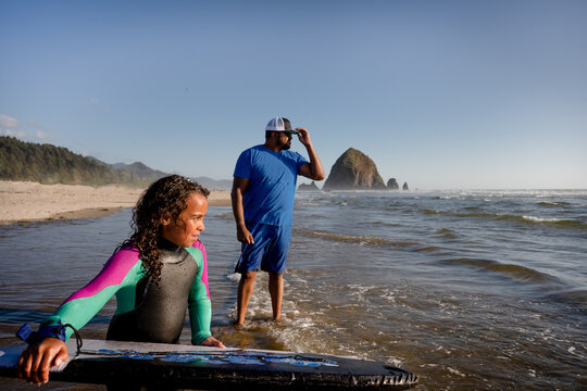
[[47,382],[49,368],[67,358],[64,341],[114,294],[116,312],[107,339],[176,343],[188,310],[191,343],[224,348],[210,333],[207,256],[198,240],[209,193],[178,175],[152,184],[133,211],[134,234],[98,276],[65,300],[39,331],[28,336],[24,330],[29,346],[21,355],[18,376]]

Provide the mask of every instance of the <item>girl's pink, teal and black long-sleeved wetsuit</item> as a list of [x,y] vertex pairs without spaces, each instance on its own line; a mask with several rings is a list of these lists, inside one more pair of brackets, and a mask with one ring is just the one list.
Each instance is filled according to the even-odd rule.
[[[88,285],[72,294],[41,324],[85,326],[116,295],[116,312],[107,339],[118,341],[176,343],[182,335],[186,310],[191,324],[191,343],[211,336],[212,310],[208,289],[205,249],[198,240],[191,248],[168,241],[160,245],[161,279],[149,283],[137,249],[123,248],[113,254]],[[70,338],[73,331],[65,331]]]

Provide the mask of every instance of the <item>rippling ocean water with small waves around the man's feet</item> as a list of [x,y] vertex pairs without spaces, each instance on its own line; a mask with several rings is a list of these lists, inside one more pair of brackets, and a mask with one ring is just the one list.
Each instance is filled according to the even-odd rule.
[[[97,274],[129,218],[1,226],[0,343]],[[377,360],[419,375],[416,390],[587,389],[587,190],[299,192],[294,219],[283,321],[260,274],[237,331],[234,219],[209,209],[212,328],[226,345]],[[114,306],[83,337],[103,338]]]

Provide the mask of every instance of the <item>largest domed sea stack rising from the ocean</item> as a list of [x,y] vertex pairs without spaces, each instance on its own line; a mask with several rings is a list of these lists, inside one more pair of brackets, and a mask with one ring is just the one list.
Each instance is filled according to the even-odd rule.
[[336,161],[324,190],[383,190],[385,182],[375,163],[363,152],[349,148]]

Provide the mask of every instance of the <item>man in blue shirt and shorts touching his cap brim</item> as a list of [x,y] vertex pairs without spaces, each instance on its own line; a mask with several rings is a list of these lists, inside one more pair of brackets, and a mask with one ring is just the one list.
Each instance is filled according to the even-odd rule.
[[[292,135],[305,147],[310,162],[291,148]],[[259,269],[268,273],[273,319],[279,320],[284,295],[283,274],[291,237],[294,195],[298,175],[324,179],[324,167],[304,128],[291,129],[289,119],[275,117],[265,127],[265,143],[238,157],[233,190],[233,213],[241,244],[235,268],[240,273],[237,327],[245,324],[247,306]]]

